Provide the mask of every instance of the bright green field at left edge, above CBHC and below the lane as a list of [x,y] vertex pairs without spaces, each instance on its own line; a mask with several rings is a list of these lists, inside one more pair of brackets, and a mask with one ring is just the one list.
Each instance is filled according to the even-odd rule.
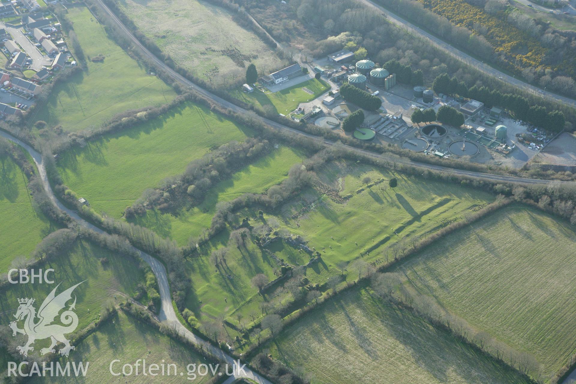
[[17,257],[28,257],[46,235],[59,228],[32,206],[28,180],[10,158],[0,159],[0,272]]

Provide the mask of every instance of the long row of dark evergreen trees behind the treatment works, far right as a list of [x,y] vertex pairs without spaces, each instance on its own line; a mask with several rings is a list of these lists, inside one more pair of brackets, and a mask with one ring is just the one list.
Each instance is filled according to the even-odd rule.
[[432,88],[436,93],[445,93],[453,96],[472,98],[483,102],[487,108],[495,105],[512,112],[517,119],[528,121],[535,126],[542,127],[552,132],[564,130],[566,118],[564,113],[554,110],[548,111],[541,105],[530,105],[527,98],[513,93],[502,93],[497,89],[489,89],[486,86],[476,85],[468,88],[466,83],[456,77],[450,78],[447,74],[441,74],[434,79]]

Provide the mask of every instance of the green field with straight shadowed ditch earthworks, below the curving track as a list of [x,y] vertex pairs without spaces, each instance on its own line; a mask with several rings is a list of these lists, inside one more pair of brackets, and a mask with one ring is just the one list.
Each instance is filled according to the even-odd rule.
[[[365,254],[366,261],[385,261],[382,250],[387,246],[402,238],[433,233],[494,200],[488,193],[459,185],[381,172],[349,161],[332,162],[316,173],[339,195],[350,193],[350,200],[336,203],[326,195],[308,190],[300,199],[285,204],[278,218],[291,233],[301,234],[323,253],[329,274],[340,273],[335,265],[339,261],[354,260],[360,253]],[[364,177],[384,181],[367,188],[362,183]],[[388,186],[392,177],[398,179],[395,189]],[[357,193],[361,188],[363,191]],[[304,207],[312,209],[298,214]]]

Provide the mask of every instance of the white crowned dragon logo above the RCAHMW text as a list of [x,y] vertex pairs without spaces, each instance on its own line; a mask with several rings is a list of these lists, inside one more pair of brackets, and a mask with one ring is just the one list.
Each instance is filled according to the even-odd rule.
[[[32,344],[34,344],[36,340],[44,340],[48,339],[48,337],[51,339],[51,344],[48,348],[40,349],[42,355],[46,355],[46,353],[49,352],[55,353],[56,349],[54,347],[56,347],[58,343],[64,344],[58,351],[62,356],[68,356],[70,351],[76,348],[70,345],[70,340],[64,336],[65,334],[74,332],[78,326],[78,316],[73,311],[76,306],[75,295],[72,305],[60,314],[60,322],[64,325],[52,324],[52,322],[55,321],[60,310],[66,307],[66,302],[72,299],[74,289],[82,283],[84,282],[78,283],[56,296],[56,289],[62,283],[58,284],[47,298],[44,299],[38,313],[36,313],[36,309],[33,306],[35,299],[18,299],[20,306],[18,306],[18,310],[14,315],[16,321],[10,323],[10,328],[12,328],[12,336],[16,336],[17,333],[28,335],[28,342],[25,345],[18,345],[18,347],[16,347],[21,355],[28,356],[29,351],[34,351]],[[17,322],[21,320],[24,320],[24,329],[18,328]]]

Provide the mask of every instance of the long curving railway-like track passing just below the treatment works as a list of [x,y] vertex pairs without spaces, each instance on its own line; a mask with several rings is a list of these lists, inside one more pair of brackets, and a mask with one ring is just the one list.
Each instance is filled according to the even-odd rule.
[[[112,12],[112,10],[110,10],[108,8],[107,5],[104,4],[103,1],[101,1],[101,0],[94,0],[94,1],[96,1],[98,3],[98,5],[100,5],[100,7],[108,14],[108,16],[110,16],[112,18],[112,20],[115,21],[116,24],[118,24],[119,28],[122,29],[122,31],[126,34],[128,39],[132,40],[132,42],[135,45],[137,45],[138,48],[140,48],[142,53],[144,55],[146,55],[147,58],[152,60],[158,67],[165,70],[166,73],[170,74],[170,76],[172,76],[176,81],[182,83],[183,85],[187,86],[190,89],[193,89],[195,92],[198,92],[202,96],[215,102],[216,104],[221,105],[224,108],[228,108],[228,109],[230,109],[236,113],[248,113],[248,111],[246,109],[238,107],[238,105],[233,104],[230,101],[224,100],[223,98],[221,98],[219,96],[216,96],[215,94],[213,94],[213,93],[209,92],[208,90],[200,87],[199,85],[196,85],[195,83],[191,82],[190,80],[183,77],[182,75],[177,73],[175,70],[173,70],[172,68],[167,66],[156,55],[154,55],[152,52],[150,52],[134,35],[132,35],[130,30],[128,30],[128,28],[126,28],[126,26],[124,26],[122,21],[116,16],[115,13]],[[576,101],[574,101],[574,105],[576,105]],[[312,138],[312,139],[323,140],[324,144],[328,145],[328,146],[332,146],[335,144],[335,142],[333,142],[332,140],[327,140],[324,138],[320,138],[319,136],[314,136],[314,135],[310,135],[310,134],[307,134],[307,133],[302,132],[302,131],[295,130],[294,128],[290,128],[290,127],[287,127],[283,124],[276,123],[276,121],[266,119],[266,117],[257,116],[257,118],[272,128],[276,128],[278,130],[283,130],[283,131],[288,131],[288,132],[291,132],[293,134],[304,135],[304,136],[306,136],[308,138]],[[491,173],[473,172],[473,171],[469,171],[469,170],[454,169],[454,168],[441,166],[441,165],[426,164],[426,163],[417,162],[417,161],[391,159],[391,158],[388,158],[384,155],[381,155],[381,154],[378,154],[378,153],[375,153],[372,151],[368,151],[365,149],[360,149],[360,148],[349,146],[349,145],[344,145],[344,147],[346,147],[346,149],[348,149],[348,150],[356,151],[358,153],[362,153],[362,154],[365,154],[365,155],[373,157],[373,158],[394,161],[398,164],[418,166],[421,168],[426,168],[426,169],[431,169],[431,170],[450,172],[452,174],[461,175],[461,176],[478,177],[478,178],[482,178],[484,180],[491,180],[491,181],[497,181],[497,182],[501,181],[504,183],[521,183],[521,184],[548,184],[548,183],[551,183],[550,180],[541,180],[541,179],[536,179],[536,178],[526,178],[526,177],[505,176],[505,175],[498,175],[498,174],[491,174]],[[576,182],[574,182],[574,181],[557,181],[556,183],[576,185]]]

